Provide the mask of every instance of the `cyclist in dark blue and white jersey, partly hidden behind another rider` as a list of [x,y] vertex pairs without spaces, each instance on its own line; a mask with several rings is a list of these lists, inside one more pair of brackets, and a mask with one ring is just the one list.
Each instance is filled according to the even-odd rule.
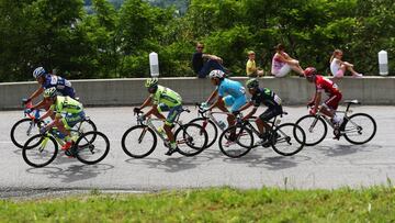
[[[61,96],[68,96],[72,99],[76,98],[76,93],[74,88],[71,87],[70,81],[63,77],[46,73],[43,67],[35,68],[33,71],[33,77],[37,80],[41,87],[27,98],[26,103],[32,101],[34,98],[37,98],[41,93],[44,92],[45,89],[49,89],[53,87],[55,87],[57,92]],[[30,113],[32,110],[41,108],[45,108],[45,110],[48,110],[49,104],[45,104],[45,100],[43,100],[40,103],[33,105],[31,109],[27,109],[26,112]]]

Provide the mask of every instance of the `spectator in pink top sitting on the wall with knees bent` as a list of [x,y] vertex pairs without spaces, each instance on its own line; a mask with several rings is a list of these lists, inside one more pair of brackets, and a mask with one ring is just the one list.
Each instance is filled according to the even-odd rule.
[[282,44],[275,46],[275,54],[272,59],[271,73],[275,77],[284,77],[291,69],[296,71],[300,77],[304,77],[303,68],[300,66],[298,60],[292,58],[284,52],[285,47]]

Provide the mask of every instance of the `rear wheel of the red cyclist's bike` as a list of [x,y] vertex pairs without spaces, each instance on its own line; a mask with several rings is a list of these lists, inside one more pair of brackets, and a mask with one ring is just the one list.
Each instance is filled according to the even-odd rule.
[[377,130],[377,125],[374,119],[365,113],[352,114],[348,119],[346,118],[343,131],[340,127],[340,132],[345,133],[345,138],[352,144],[364,144],[371,141]]

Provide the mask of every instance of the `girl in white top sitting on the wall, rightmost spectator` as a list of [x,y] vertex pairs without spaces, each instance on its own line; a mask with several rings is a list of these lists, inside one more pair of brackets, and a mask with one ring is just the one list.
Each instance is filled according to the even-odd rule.
[[348,62],[342,62],[342,51],[335,49],[334,54],[330,57],[330,71],[335,78],[342,78],[345,76],[346,69],[349,70],[353,77],[363,77],[362,74],[357,73],[353,69],[353,65]]

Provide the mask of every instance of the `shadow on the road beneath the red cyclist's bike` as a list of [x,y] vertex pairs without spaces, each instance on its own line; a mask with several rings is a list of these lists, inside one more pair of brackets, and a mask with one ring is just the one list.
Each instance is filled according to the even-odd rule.
[[381,145],[335,145],[335,146],[323,146],[323,145],[317,145],[315,146],[315,148],[317,150],[323,152],[326,156],[329,157],[337,157],[337,156],[347,156],[347,155],[351,155],[351,154],[356,154],[359,152],[373,152],[379,148],[382,148],[383,146]]

